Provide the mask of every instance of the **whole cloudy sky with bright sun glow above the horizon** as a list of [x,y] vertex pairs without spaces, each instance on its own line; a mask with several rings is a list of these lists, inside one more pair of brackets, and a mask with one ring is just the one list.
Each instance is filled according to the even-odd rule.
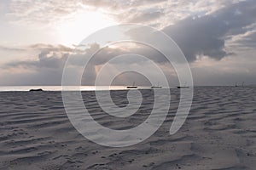
[[[195,85],[256,84],[255,16],[254,0],[1,0],[0,86],[61,85],[64,65],[85,37],[125,23],[151,26],[172,37],[189,62]],[[170,85],[178,83],[165,57],[142,44],[102,48],[95,42],[76,56],[88,57],[100,49],[85,71],[89,76],[83,85],[94,84],[108,59],[127,53],[152,59]],[[153,83],[161,83],[148,62],[124,57],[108,65],[108,71],[140,67],[155,77]],[[132,82],[148,85],[147,77],[134,72],[120,73],[113,85]]]

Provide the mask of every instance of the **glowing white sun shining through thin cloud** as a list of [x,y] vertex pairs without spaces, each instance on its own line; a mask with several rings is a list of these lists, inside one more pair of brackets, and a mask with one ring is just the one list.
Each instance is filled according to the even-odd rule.
[[79,44],[85,37],[102,28],[116,25],[117,22],[107,14],[100,11],[90,11],[82,14],[75,14],[72,20],[63,21],[57,27],[59,39],[62,44]]

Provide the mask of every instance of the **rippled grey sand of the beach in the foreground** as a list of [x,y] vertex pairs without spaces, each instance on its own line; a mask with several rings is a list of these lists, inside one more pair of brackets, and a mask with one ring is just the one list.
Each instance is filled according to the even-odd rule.
[[[0,169],[253,170],[255,92],[256,88],[195,88],[189,117],[171,136],[178,101],[178,89],[172,89],[166,122],[147,140],[125,148],[101,146],[80,135],[67,119],[60,92],[2,92]],[[113,92],[117,105],[126,105],[125,93]],[[148,97],[137,114],[112,119],[96,105],[93,92],[83,94],[97,121],[115,129],[137,126],[152,108],[146,90]]]

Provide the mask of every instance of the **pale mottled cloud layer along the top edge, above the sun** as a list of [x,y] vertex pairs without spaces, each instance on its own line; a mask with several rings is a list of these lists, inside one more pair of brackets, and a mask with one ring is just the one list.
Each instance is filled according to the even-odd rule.
[[[120,23],[139,22],[162,28],[195,14],[207,14],[237,0],[14,0],[8,16],[23,24],[53,26],[63,20],[73,20],[78,13],[99,9]],[[24,10],[26,8],[26,10]],[[164,17],[162,17],[164,16]],[[11,18],[9,18],[11,19]],[[152,22],[154,21],[154,22]]]

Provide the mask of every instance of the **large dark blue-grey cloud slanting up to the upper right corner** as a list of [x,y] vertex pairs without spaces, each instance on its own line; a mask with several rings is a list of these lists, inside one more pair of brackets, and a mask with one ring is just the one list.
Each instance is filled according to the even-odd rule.
[[231,4],[201,17],[189,17],[167,26],[165,31],[177,42],[189,61],[198,55],[222,59],[229,55],[225,51],[227,36],[242,33],[245,26],[256,22],[256,3],[245,1]]

